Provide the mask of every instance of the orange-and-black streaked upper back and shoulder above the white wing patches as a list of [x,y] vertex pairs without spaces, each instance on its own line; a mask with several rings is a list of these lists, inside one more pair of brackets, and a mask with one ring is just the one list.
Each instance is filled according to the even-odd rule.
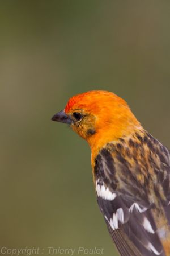
[[126,187],[126,193],[145,200],[148,196],[152,203],[155,194],[168,200],[169,175],[168,148],[145,130],[106,144],[95,157],[95,181],[111,191],[123,193]]

